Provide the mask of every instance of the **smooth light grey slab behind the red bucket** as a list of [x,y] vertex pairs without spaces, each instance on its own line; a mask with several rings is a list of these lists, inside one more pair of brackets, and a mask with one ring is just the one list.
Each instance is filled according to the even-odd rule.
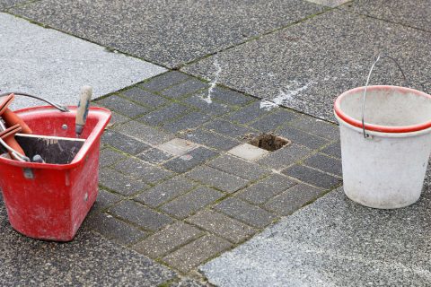
[[[0,13],[0,22],[0,65],[9,67],[0,75],[2,91],[25,91],[76,105],[84,85],[92,86],[95,99],[165,71],[10,14]],[[16,99],[13,107],[34,105],[40,101],[24,98]]]

